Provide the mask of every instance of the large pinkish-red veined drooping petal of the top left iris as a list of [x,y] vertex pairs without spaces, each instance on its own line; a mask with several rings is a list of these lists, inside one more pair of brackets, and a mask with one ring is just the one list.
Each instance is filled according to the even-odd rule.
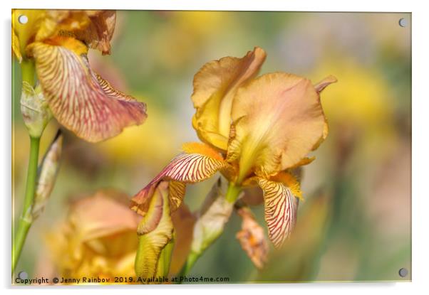
[[72,38],[57,38],[56,42],[32,43],[29,51],[36,59],[43,93],[58,122],[82,139],[97,142],[145,121],[145,103],[114,90],[93,73],[83,43]]

